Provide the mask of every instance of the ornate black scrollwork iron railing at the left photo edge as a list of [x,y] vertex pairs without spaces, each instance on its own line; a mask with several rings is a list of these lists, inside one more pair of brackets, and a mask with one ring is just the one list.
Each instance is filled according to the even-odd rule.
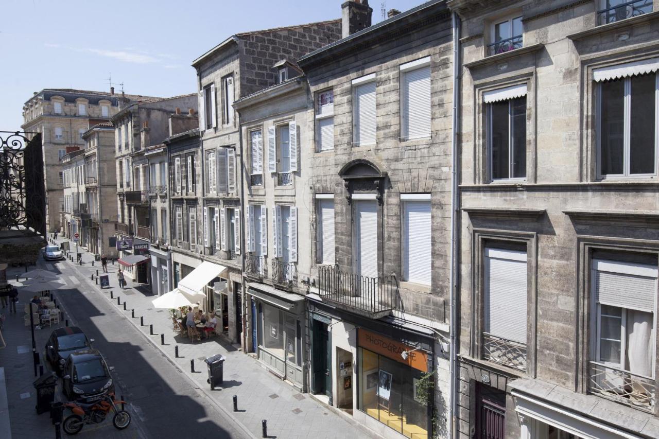
[[42,136],[26,134],[0,131],[0,229],[45,237]]

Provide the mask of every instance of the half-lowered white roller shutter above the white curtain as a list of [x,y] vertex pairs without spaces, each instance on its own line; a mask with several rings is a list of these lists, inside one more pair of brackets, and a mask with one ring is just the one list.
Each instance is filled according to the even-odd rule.
[[627,309],[654,312],[657,269],[654,266],[593,260],[597,302]]

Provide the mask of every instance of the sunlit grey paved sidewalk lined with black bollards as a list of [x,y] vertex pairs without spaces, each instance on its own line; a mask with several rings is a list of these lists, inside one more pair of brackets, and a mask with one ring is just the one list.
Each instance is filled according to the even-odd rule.
[[[58,239],[57,245],[61,241],[63,240]],[[74,251],[72,247],[72,252]],[[82,266],[68,260],[67,263],[75,266],[82,282],[87,283],[93,291],[98,291],[99,297],[96,300],[111,301],[115,307],[122,310],[127,320],[148,337],[171,363],[185,372],[204,394],[215,401],[219,409],[227,413],[236,423],[242,424],[245,430],[254,434],[254,437],[262,437],[263,419],[268,421],[268,436],[271,438],[380,437],[353,422],[347,415],[340,415],[312,399],[310,395],[297,392],[292,386],[268,373],[251,355],[245,355],[235,347],[219,341],[219,338],[192,343],[187,337],[177,335],[173,330],[168,310],[153,307],[151,301],[156,296],[145,295],[140,291],[144,289],[136,289],[130,281],[127,289],[119,289],[116,276],[119,266],[116,262],[114,266],[108,264],[110,286],[101,289],[100,285],[95,285],[91,280],[92,274],[96,277],[97,269],[99,274],[102,272],[100,262],[92,266],[93,259],[92,254],[84,253],[85,263]],[[92,290],[89,291],[90,296],[96,295],[91,293]],[[110,299],[110,291],[113,291],[115,299]],[[120,297],[121,306],[117,305],[117,296]],[[126,311],[123,311],[124,301],[127,306]],[[130,317],[130,310],[133,308],[135,318]],[[143,327],[140,327],[140,316],[144,317]],[[150,325],[153,325],[156,334],[154,336],[149,335]],[[165,335],[165,345],[160,345],[160,334]],[[174,356],[175,345],[179,346],[179,358]],[[221,390],[210,390],[210,386],[206,383],[208,372],[204,359],[218,353],[227,357],[224,363],[224,385]],[[190,372],[190,360],[194,360],[195,372]],[[233,412],[233,395],[238,397],[238,412]]]

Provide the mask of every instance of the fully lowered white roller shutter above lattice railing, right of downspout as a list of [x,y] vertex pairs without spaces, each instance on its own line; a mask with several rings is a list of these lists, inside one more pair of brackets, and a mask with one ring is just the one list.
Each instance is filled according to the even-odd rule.
[[527,343],[527,254],[485,249],[485,332]]

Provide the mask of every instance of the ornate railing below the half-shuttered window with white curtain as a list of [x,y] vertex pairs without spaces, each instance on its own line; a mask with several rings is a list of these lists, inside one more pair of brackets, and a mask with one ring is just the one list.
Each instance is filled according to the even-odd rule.
[[590,361],[588,391],[625,405],[633,405],[654,413],[655,384],[648,376]]

